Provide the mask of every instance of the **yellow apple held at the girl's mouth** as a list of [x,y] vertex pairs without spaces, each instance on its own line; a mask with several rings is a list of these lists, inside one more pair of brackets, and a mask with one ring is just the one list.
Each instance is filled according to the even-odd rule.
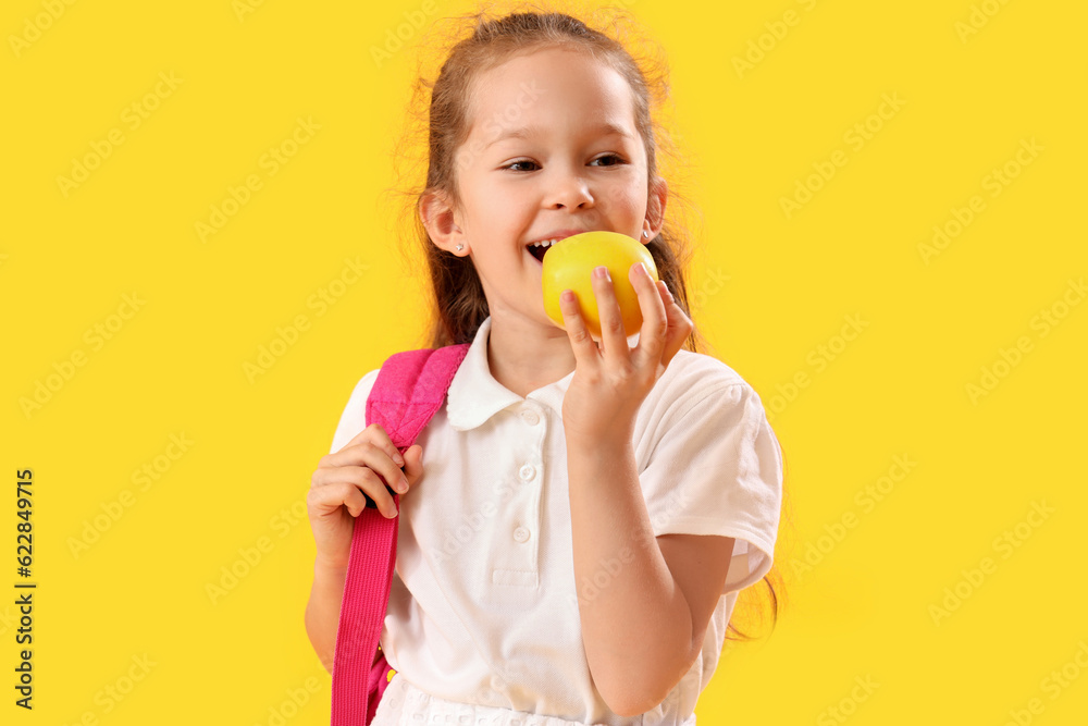
[[630,337],[642,328],[642,308],[639,294],[628,279],[628,272],[635,262],[646,266],[652,280],[657,280],[654,257],[638,239],[619,232],[583,232],[560,241],[544,255],[544,311],[560,328],[566,330],[559,294],[573,291],[585,320],[585,327],[594,340],[601,340],[601,317],[597,298],[593,294],[593,269],[604,266],[613,280],[613,291],[623,317],[625,335]]

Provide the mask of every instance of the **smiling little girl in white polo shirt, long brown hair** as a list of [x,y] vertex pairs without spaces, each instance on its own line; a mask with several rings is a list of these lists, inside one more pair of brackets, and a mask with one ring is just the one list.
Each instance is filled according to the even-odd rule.
[[[639,65],[566,14],[474,20],[430,88],[415,207],[430,347],[471,347],[403,458],[366,426],[379,371],[356,385],[307,497],[307,630],[331,669],[366,494],[399,517],[375,726],[689,726],[738,592],[771,569],[781,451],[755,391],[683,347],[681,236]],[[660,274],[628,271],[631,337],[607,274],[599,342],[584,300],[562,296],[565,329],[545,313],[535,243],[591,230],[639,239]]]

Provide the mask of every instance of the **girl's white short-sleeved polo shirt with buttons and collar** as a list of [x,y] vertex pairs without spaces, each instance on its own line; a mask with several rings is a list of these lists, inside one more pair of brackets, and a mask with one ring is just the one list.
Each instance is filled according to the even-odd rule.
[[[654,534],[737,542],[701,655],[660,705],[621,717],[593,687],[578,616],[561,416],[574,373],[522,398],[491,376],[490,330],[489,317],[417,440],[424,471],[400,497],[385,657],[440,699],[609,726],[682,724],[718,664],[737,593],[771,566],[782,457],[759,396],[720,360],[681,349],[642,403],[634,454]],[[353,391],[331,452],[366,428],[378,372]]]

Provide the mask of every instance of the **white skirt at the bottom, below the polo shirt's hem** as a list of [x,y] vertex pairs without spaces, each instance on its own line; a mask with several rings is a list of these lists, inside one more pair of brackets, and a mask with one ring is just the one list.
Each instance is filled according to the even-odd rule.
[[[641,722],[636,722],[641,723]],[[498,706],[474,705],[447,701],[416,688],[393,674],[378,712],[370,726],[430,726],[431,724],[457,724],[458,726],[584,726],[579,721],[567,721],[557,716],[542,716],[523,711],[511,711]],[[695,726],[692,714],[681,726]]]

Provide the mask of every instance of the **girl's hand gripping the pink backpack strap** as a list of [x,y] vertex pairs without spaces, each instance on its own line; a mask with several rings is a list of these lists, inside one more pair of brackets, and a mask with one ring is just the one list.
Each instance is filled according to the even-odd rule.
[[396,517],[396,503],[386,484],[396,489],[403,483],[404,491],[397,490],[403,496],[423,473],[422,454],[422,447],[415,444],[401,458],[385,430],[371,423],[338,452],[321,457],[306,495],[319,562],[347,569],[351,529],[367,506],[367,496],[385,517]]

